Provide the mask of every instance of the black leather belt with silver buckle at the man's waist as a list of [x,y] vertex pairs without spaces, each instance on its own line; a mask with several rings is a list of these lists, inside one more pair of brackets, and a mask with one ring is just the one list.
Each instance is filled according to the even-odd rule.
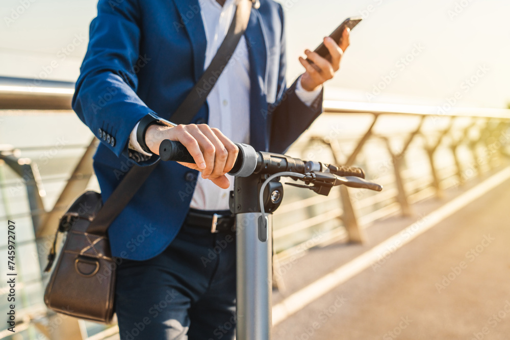
[[235,221],[236,218],[230,211],[208,212],[190,208],[184,223],[211,232],[232,233],[236,231]]

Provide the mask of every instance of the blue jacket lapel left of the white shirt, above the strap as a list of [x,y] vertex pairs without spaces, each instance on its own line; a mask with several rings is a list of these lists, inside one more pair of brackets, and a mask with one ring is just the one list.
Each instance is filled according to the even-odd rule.
[[186,27],[193,49],[195,82],[203,74],[206,60],[207,38],[203,27],[202,15],[198,0],[173,0],[181,16],[181,23]]

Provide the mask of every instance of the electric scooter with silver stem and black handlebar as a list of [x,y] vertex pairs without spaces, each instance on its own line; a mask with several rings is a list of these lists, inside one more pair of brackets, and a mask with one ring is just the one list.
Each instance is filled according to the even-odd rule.
[[[279,177],[298,183],[288,185],[310,189],[327,196],[331,188],[344,185],[381,191],[365,180],[362,169],[302,161],[284,154],[256,151],[247,144],[236,144],[239,155],[233,169],[234,191],[230,210],[236,216],[237,238],[237,328],[238,340],[269,340],[271,337],[272,291],[272,213],[283,198]],[[162,161],[195,163],[180,142],[164,140]]]

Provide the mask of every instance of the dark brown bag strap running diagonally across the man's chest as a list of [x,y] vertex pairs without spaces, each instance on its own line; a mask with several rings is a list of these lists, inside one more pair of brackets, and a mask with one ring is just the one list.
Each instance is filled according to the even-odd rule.
[[[225,66],[234,54],[241,37],[248,27],[248,20],[253,3],[254,0],[241,0],[238,3],[232,23],[211,64],[203,72],[186,99],[184,99],[179,108],[177,108],[170,118],[170,121],[177,124],[189,124],[198,110],[200,110],[202,105],[206,102],[207,96],[218,81],[219,75],[225,69]],[[206,84],[210,86],[204,86]],[[87,232],[92,234],[106,234],[110,224],[112,224],[127,203],[135,196],[135,193],[140,189],[143,182],[158,164],[159,162],[146,167],[133,166],[133,168],[125,174],[124,178],[120,181],[101,210],[99,210],[96,217],[87,228]]]

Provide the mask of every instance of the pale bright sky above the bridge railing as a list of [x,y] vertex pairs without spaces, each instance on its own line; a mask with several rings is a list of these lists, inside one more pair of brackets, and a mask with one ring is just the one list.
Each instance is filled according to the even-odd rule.
[[[146,0],[147,1],[147,0]],[[298,56],[346,17],[363,16],[326,99],[506,108],[508,0],[279,0],[288,80]],[[0,75],[75,81],[96,0],[2,0]],[[24,4],[24,7],[23,7]]]

